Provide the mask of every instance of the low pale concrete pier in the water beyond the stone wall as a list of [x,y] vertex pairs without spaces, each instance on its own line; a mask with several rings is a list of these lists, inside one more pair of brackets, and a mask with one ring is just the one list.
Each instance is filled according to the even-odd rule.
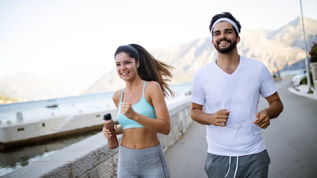
[[118,111],[112,109],[75,116],[21,121],[12,125],[2,124],[0,125],[0,150],[102,128],[102,118],[107,112],[113,113],[113,120],[117,121]]

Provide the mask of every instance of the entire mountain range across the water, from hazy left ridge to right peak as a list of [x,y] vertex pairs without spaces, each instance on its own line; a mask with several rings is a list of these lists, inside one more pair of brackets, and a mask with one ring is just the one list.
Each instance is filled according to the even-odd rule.
[[[301,22],[301,18],[298,17],[277,30],[243,29],[241,41],[237,45],[238,53],[261,60],[271,71],[277,68],[302,68],[305,64],[305,53]],[[317,41],[317,21],[304,18],[304,24],[309,51],[310,41]],[[188,41],[182,45],[148,50],[157,59],[176,68],[173,71],[173,83],[191,81],[199,67],[217,59],[217,51],[212,46],[210,37]],[[0,91],[9,98],[37,100],[115,91],[125,86],[115,70],[101,76],[103,68],[108,68],[101,66],[91,66],[93,68],[89,70],[88,66],[85,70],[74,66],[58,71],[50,77],[30,73],[9,74],[0,78]]]

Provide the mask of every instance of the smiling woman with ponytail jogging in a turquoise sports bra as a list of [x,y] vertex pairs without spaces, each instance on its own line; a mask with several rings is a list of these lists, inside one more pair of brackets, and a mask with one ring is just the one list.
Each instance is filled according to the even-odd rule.
[[137,44],[120,46],[114,58],[126,87],[113,94],[120,126],[114,126],[116,133],[104,127],[103,133],[105,138],[123,134],[117,177],[169,178],[158,133],[168,135],[171,130],[165,96],[170,92],[174,97],[174,92],[163,76],[171,78],[173,67]]

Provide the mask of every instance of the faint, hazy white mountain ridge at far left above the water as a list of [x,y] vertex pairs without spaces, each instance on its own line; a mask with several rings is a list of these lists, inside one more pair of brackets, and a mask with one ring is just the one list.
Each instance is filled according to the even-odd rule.
[[80,78],[73,77],[73,79],[69,79],[67,82],[67,80],[61,81],[60,78],[37,76],[31,73],[14,73],[0,78],[0,91],[10,98],[19,100],[76,96],[83,89],[79,90],[78,87],[80,86],[72,85],[74,80],[80,80]]

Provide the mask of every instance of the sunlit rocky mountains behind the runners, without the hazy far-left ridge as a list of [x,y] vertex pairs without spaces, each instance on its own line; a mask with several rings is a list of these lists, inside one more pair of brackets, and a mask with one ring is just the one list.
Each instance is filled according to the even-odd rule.
[[[304,18],[305,31],[317,35],[317,21]],[[262,61],[270,71],[277,69],[296,69],[303,66],[305,51],[301,18],[289,22],[277,30],[242,30],[241,41],[237,45],[238,53]],[[195,71],[217,59],[217,50],[212,46],[211,37],[196,39],[182,45],[149,50],[158,60],[167,62],[176,68],[173,71],[173,83],[192,80]],[[317,39],[315,39],[317,41]],[[308,48],[309,46],[307,46]],[[307,49],[308,50],[308,49]],[[118,90],[125,86],[115,70],[103,75],[85,93],[98,93]]]

